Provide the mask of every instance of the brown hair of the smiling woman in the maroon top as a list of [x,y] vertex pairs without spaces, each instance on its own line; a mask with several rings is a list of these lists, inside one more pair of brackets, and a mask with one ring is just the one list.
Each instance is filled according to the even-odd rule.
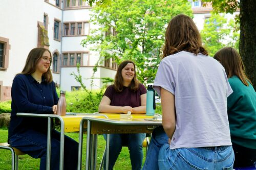
[[129,88],[132,91],[136,91],[139,88],[139,83],[140,82],[137,80],[135,63],[133,61],[130,61],[130,60],[125,60],[125,61],[120,63],[120,65],[118,66],[117,71],[116,71],[115,82],[114,82],[114,87],[115,87],[116,92],[121,92],[123,90],[122,69],[128,63],[132,63],[134,65],[134,77],[133,77],[133,80],[132,80],[131,84],[129,85]]

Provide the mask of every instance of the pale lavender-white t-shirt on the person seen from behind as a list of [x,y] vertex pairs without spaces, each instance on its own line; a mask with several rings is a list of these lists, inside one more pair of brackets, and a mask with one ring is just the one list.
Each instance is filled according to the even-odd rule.
[[154,82],[159,95],[160,87],[175,95],[170,149],[231,145],[227,96],[232,89],[217,60],[184,51],[165,57]]

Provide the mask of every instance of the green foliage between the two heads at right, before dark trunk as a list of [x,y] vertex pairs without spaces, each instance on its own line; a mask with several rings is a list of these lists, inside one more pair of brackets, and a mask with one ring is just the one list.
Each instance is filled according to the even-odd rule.
[[205,19],[204,29],[201,31],[204,46],[211,57],[224,46],[232,46],[238,49],[239,33],[233,30],[234,21],[219,14],[211,13],[211,17]]

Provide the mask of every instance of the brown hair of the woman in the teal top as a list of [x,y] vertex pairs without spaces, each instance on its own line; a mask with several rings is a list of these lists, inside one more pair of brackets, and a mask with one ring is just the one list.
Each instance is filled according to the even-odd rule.
[[247,81],[250,83],[251,81],[245,75],[244,63],[236,49],[232,47],[221,48],[221,50],[214,55],[214,58],[223,65],[228,78],[236,75],[244,85],[249,86]]

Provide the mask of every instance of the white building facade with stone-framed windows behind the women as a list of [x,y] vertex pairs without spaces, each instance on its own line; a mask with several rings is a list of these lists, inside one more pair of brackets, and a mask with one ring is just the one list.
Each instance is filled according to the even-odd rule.
[[[203,29],[210,17],[211,6],[188,0],[194,11],[194,21]],[[1,0],[0,1],[0,101],[11,99],[12,80],[22,71],[30,50],[46,47],[52,53],[53,80],[63,90],[79,89],[71,73],[77,74],[77,63],[83,83],[90,88],[93,67],[99,53],[80,43],[92,29],[91,7],[82,0]],[[233,16],[230,16],[233,17]],[[108,59],[98,66],[95,78],[114,78],[117,66]],[[92,88],[102,87],[100,79]]]

